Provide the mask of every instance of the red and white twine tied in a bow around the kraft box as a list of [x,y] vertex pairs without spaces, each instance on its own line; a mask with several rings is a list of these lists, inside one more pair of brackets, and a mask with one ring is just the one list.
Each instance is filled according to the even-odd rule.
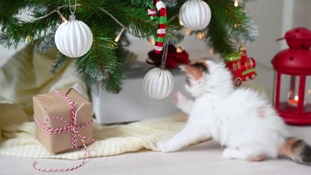
[[[63,133],[63,132],[67,132],[67,131],[71,131],[71,145],[73,149],[78,149],[78,145],[77,145],[77,137],[79,137],[83,143],[83,147],[84,147],[84,158],[82,160],[82,162],[72,168],[66,168],[66,169],[43,169],[43,168],[38,168],[36,167],[37,162],[32,160],[32,167],[36,170],[39,171],[47,171],[47,172],[63,172],[63,171],[71,171],[77,168],[80,168],[84,163],[85,160],[87,158],[87,148],[85,145],[85,141],[86,140],[91,140],[91,141],[96,141],[96,139],[90,139],[87,137],[82,136],[79,132],[78,132],[78,128],[82,128],[82,127],[86,127],[86,126],[90,126],[93,123],[93,120],[91,122],[88,123],[83,123],[83,124],[77,124],[77,114],[80,110],[80,108],[82,107],[82,105],[78,108],[78,110],[76,110],[76,106],[75,106],[75,102],[72,101],[70,98],[66,97],[64,94],[62,94],[59,91],[53,91],[54,93],[56,93],[57,95],[59,95],[62,99],[64,99],[65,101],[67,101],[70,104],[71,107],[71,112],[70,112],[70,120],[71,123],[67,122],[66,120],[64,120],[61,117],[57,117],[57,116],[53,116],[53,117],[49,117],[45,120],[45,122],[42,124],[35,116],[33,116],[34,121],[47,133],[47,134],[58,134],[58,133]],[[50,119],[58,119],[63,121],[66,126],[64,127],[56,127],[56,128],[51,128],[47,125],[47,122]]]

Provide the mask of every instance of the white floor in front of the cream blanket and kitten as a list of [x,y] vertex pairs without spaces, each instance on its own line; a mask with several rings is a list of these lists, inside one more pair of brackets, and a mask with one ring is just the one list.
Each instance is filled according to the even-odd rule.
[[[294,136],[311,144],[311,126],[290,126]],[[79,164],[79,161],[35,159],[40,167],[64,168]],[[42,174],[32,169],[30,158],[0,156],[0,174]],[[291,160],[267,160],[245,162],[225,160],[220,146],[208,141],[187,147],[180,152],[164,154],[143,150],[124,155],[88,159],[81,168],[66,174],[311,174],[311,166]]]

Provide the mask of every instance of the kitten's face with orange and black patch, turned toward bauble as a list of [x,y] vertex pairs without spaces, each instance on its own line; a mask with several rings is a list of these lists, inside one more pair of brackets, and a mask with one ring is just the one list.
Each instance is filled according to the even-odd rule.
[[202,96],[205,90],[206,76],[209,74],[208,63],[198,60],[189,65],[183,65],[181,68],[186,72],[186,90],[193,97]]

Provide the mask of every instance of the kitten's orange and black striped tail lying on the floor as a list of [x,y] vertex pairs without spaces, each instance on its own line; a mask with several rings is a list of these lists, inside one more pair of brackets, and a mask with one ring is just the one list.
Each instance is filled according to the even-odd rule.
[[311,163],[311,146],[301,139],[294,137],[286,138],[284,144],[279,147],[278,153],[298,163]]

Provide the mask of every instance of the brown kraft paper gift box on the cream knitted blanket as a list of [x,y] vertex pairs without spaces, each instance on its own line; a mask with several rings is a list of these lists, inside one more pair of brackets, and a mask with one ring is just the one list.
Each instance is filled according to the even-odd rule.
[[[74,101],[76,109],[82,105],[77,112],[77,125],[92,122],[93,112],[92,103],[82,97],[76,90],[69,89],[60,91],[66,97]],[[33,97],[34,117],[40,123],[44,123],[49,117],[57,116],[71,123],[71,105],[65,101],[58,94],[52,92],[48,94],[37,95]],[[47,126],[50,128],[67,126],[63,121],[59,119],[50,119],[47,122]],[[93,138],[93,125],[78,128],[77,131],[87,138]],[[72,148],[72,135],[71,130],[58,134],[46,133],[36,123],[37,139],[50,151],[60,152]],[[92,141],[84,140],[85,144],[90,144]],[[77,146],[82,146],[83,143],[79,136],[77,136]]]

